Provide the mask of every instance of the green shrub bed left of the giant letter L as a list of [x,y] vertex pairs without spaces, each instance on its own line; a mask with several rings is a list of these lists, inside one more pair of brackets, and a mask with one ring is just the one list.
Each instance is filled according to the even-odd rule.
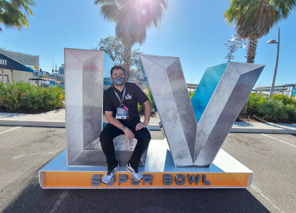
[[21,81],[0,82],[1,111],[50,111],[63,108],[64,100],[64,89],[59,86],[35,86]]

